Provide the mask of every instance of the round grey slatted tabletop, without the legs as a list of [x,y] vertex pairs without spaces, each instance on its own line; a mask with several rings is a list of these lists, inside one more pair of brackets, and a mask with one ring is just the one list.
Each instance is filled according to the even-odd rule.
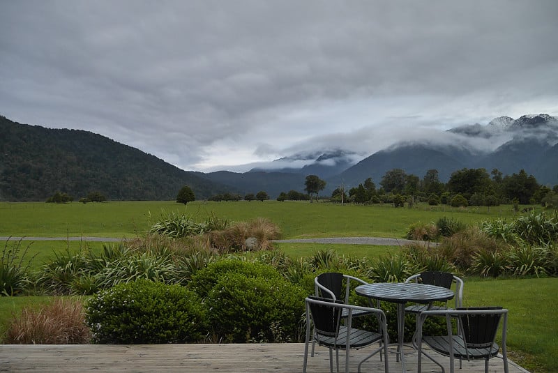
[[430,303],[455,296],[450,289],[420,282],[377,282],[359,285],[355,291],[361,296],[392,303]]

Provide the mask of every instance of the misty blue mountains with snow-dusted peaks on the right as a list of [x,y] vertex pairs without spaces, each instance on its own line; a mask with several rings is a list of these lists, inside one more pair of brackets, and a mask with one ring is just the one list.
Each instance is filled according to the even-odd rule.
[[[448,181],[452,172],[462,168],[485,168],[488,172],[497,168],[504,174],[525,169],[539,183],[557,185],[557,144],[558,119],[555,116],[534,114],[518,119],[501,116],[487,125],[461,125],[441,131],[436,137],[430,135],[428,138],[398,142],[354,165],[349,165],[349,162],[343,164],[338,169],[348,167],[338,174],[320,174],[319,169],[312,169],[319,164],[317,158],[304,167],[315,170],[314,174],[326,180],[324,194],[340,185],[352,188],[369,177],[379,183],[386,172],[395,168],[420,178],[429,169],[437,169],[443,182]],[[304,173],[303,167],[298,170]],[[292,169],[292,172],[296,170]]]

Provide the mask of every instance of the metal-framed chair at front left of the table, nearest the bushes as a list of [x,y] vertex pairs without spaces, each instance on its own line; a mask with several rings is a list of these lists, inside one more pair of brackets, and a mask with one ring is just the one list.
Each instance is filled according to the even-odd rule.
[[[333,373],[333,350],[335,350],[335,359],[337,363],[337,372],[339,372],[339,350],[344,349],[345,354],[345,372],[349,372],[349,350],[361,349],[370,344],[380,343],[380,347],[372,351],[370,355],[361,360],[359,363],[359,372],[361,365],[374,356],[379,351],[387,353],[389,343],[387,334],[386,315],[382,310],[370,307],[361,307],[358,305],[347,305],[340,300],[330,298],[319,298],[308,296],[306,302],[306,343],[304,345],[304,364],[303,373],[306,373],[308,362],[308,344],[312,340],[320,346],[329,348],[329,370]],[[341,314],[346,310],[347,318],[345,325],[341,325]],[[371,332],[352,328],[353,312],[365,311],[368,314],[375,314],[377,317],[380,333]],[[313,324],[313,332],[310,324]],[[389,372],[388,359],[384,359],[385,372]]]

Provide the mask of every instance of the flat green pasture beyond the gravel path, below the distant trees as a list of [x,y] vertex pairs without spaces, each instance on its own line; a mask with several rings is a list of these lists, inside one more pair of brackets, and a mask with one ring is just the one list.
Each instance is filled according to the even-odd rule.
[[198,221],[211,215],[230,221],[269,218],[280,227],[282,238],[402,238],[409,224],[435,222],[444,216],[474,224],[514,215],[508,205],[451,208],[420,204],[416,208],[393,208],[386,204],[359,206],[308,201],[194,201],[186,206],[174,201],[0,202],[0,236],[130,238],[144,234],[161,211],[186,213]]

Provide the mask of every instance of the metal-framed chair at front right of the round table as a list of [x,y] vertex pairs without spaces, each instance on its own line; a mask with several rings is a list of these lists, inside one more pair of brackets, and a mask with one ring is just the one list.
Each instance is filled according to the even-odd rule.
[[[427,317],[446,317],[448,327],[447,335],[424,336],[422,328]],[[458,335],[453,334],[451,320],[457,317]],[[502,323],[502,359],[504,372],[508,373],[508,357],[506,351],[506,328],[508,323],[508,310],[502,307],[469,307],[457,310],[429,310],[418,315],[416,346],[418,352],[418,372],[421,372],[421,358],[424,354],[434,363],[442,367],[434,358],[422,351],[425,342],[434,351],[450,358],[450,372],[454,372],[454,359],[460,360],[485,360],[485,373],[488,373],[488,360],[498,355],[499,346],[495,339],[500,319]],[[442,367],[444,373],[444,367]]]

